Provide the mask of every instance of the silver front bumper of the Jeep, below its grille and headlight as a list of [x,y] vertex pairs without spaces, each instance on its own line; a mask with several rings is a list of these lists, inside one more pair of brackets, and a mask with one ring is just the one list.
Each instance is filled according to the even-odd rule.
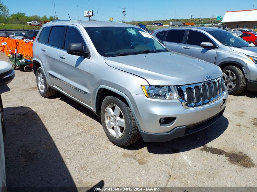
[[[153,137],[156,137],[157,141],[165,141],[166,137],[171,140],[184,136],[185,130],[189,126],[209,120],[217,114],[222,115],[227,96],[228,93],[225,91],[220,99],[189,109],[185,109],[179,100],[149,99],[144,95],[134,94],[130,95],[129,99],[144,141],[153,141]],[[175,121],[169,126],[161,126],[160,119],[168,117],[175,118]],[[151,137],[151,139],[147,139],[147,137]]]

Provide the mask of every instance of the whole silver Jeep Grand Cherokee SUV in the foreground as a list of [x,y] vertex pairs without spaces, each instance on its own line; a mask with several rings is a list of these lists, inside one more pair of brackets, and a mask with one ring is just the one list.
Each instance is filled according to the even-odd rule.
[[135,25],[57,21],[33,44],[43,97],[59,91],[101,116],[118,146],[169,141],[202,130],[224,112],[218,66],[168,50]]

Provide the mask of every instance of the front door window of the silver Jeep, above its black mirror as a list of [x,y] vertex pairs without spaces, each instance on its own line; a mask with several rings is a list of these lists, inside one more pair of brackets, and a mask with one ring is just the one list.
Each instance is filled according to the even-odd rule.
[[82,43],[84,45],[84,51],[86,50],[86,44],[84,39],[82,38],[78,29],[74,27],[67,27],[66,35],[65,35],[65,42],[64,42],[64,49],[67,50],[68,45],[70,43]]

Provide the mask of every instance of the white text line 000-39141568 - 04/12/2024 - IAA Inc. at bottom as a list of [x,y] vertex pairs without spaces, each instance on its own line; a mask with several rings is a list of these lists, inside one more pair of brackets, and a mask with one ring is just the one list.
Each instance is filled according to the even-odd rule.
[[161,191],[157,187],[94,187],[94,191]]

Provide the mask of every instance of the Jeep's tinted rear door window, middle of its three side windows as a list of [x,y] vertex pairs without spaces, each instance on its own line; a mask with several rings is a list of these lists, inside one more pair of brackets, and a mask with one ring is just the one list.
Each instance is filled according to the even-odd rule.
[[61,48],[64,26],[53,27],[48,40],[48,45]]

